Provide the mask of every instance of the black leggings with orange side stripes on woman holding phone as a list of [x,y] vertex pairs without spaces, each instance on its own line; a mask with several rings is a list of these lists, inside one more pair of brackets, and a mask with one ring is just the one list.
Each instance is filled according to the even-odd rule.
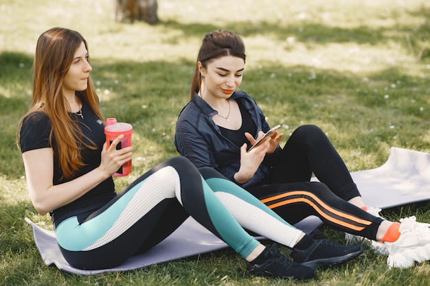
[[[320,182],[310,182],[313,173]],[[248,191],[290,224],[316,215],[336,230],[375,239],[383,221],[347,202],[360,196],[359,190],[335,147],[317,126],[297,128],[269,180]]]

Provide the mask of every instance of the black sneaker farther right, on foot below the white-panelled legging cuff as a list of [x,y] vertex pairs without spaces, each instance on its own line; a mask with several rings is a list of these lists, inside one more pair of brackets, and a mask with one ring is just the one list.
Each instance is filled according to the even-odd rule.
[[328,239],[315,239],[305,250],[293,248],[291,258],[308,267],[330,266],[358,257],[363,253],[363,246],[342,246]]

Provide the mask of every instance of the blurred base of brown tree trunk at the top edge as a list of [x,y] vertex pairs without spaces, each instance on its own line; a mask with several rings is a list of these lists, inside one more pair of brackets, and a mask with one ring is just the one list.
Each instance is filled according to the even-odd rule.
[[145,21],[149,24],[158,22],[157,0],[114,0],[115,21],[133,23]]

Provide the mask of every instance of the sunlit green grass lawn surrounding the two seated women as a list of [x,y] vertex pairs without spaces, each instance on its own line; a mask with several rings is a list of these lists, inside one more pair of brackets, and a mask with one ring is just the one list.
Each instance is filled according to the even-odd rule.
[[[133,174],[115,178],[118,190],[178,155],[174,124],[188,102],[201,39],[214,29],[243,36],[241,89],[284,134],[304,123],[321,126],[350,171],[380,166],[391,146],[430,152],[428,1],[159,0],[158,25],[115,23],[112,11],[111,1],[102,0],[0,3],[0,285],[428,284],[429,263],[389,270],[386,257],[369,249],[319,270],[308,283],[251,277],[231,250],[93,276],[45,266],[23,218],[52,226],[30,203],[14,136],[30,104],[36,40],[50,27],[77,29],[87,38],[104,115],[133,124]],[[383,215],[430,221],[430,204]],[[326,234],[344,242],[342,233]]]

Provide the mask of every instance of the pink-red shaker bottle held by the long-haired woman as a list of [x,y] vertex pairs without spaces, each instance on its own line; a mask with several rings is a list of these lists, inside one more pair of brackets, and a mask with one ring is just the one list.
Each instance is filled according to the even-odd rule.
[[[124,134],[124,138],[117,145],[117,150],[120,150],[122,147],[131,146],[131,134],[133,133],[133,126],[124,122],[117,122],[115,118],[106,119],[106,127],[104,127],[104,134],[106,134],[106,145],[109,148],[112,141],[114,141],[117,136]],[[124,163],[118,169],[118,171],[113,174],[114,177],[122,177],[128,176],[131,173],[131,160]]]

